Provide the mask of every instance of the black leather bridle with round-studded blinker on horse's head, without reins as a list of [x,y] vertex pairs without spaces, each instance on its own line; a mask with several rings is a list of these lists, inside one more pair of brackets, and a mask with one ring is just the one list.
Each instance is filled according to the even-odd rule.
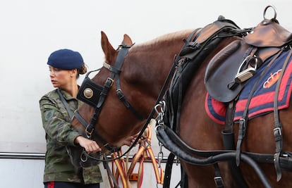
[[131,46],[121,44],[120,46],[118,46],[118,56],[116,57],[114,65],[112,66],[108,63],[103,64],[104,68],[107,68],[111,72],[111,76],[107,77],[107,80],[104,82],[103,86],[96,84],[90,79],[90,77],[88,77],[90,73],[98,71],[100,70],[100,68],[97,70],[92,70],[88,72],[85,76],[85,79],[83,80],[83,83],[81,84],[77,95],[77,99],[85,102],[85,104],[89,104],[90,106],[95,107],[95,112],[92,115],[90,123],[87,123],[86,120],[80,115],[80,113],[78,113],[78,111],[75,111],[75,118],[77,118],[79,122],[83,124],[83,126],[85,126],[86,137],[88,139],[92,139],[92,134],[95,134],[96,139],[98,139],[99,142],[102,142],[104,148],[109,150],[111,153],[118,151],[120,148],[109,144],[100,134],[98,134],[94,130],[100,111],[102,110],[102,105],[107,98],[109,89],[111,89],[111,86],[114,84],[114,80],[116,80],[116,94],[120,101],[123,102],[126,108],[128,108],[135,115],[136,118],[138,118],[139,120],[145,119],[142,115],[140,115],[140,113],[138,113],[138,111],[135,110],[135,108],[133,108],[133,106],[130,105],[130,103],[126,99],[126,96],[121,90],[119,75],[121,73],[121,67],[123,65],[124,58],[128,54],[130,47]]

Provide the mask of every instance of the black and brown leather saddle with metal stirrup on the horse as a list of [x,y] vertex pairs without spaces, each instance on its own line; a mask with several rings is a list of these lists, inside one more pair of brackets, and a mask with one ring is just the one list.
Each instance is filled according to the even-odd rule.
[[264,19],[248,35],[238,37],[209,61],[205,86],[210,96],[221,102],[232,101],[257,68],[291,42],[291,32],[276,19]]

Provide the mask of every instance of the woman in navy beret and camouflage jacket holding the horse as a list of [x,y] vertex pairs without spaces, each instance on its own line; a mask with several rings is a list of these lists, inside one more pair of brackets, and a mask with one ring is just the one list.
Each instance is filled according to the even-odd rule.
[[77,168],[66,151],[66,146],[78,145],[88,153],[101,151],[95,141],[81,136],[70,124],[74,111],[81,105],[76,96],[77,79],[87,72],[83,57],[77,51],[60,49],[49,56],[47,64],[51,84],[56,89],[39,100],[47,140],[44,187],[97,188],[102,182],[99,166]]

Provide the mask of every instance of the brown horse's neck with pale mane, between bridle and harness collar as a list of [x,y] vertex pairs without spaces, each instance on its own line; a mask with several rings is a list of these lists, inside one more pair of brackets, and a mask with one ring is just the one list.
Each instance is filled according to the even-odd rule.
[[[123,65],[123,78],[132,93],[140,99],[140,108],[148,114],[162,89],[174,57],[183,46],[183,39],[192,32],[185,30],[158,37],[145,44],[133,46]],[[134,96],[133,96],[134,97]]]

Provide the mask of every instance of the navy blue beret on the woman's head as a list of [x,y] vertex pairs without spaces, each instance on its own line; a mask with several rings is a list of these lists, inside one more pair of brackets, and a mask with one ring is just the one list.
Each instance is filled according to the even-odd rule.
[[83,58],[78,51],[71,49],[59,49],[51,53],[48,58],[48,65],[54,68],[71,70],[80,68],[83,65]]

